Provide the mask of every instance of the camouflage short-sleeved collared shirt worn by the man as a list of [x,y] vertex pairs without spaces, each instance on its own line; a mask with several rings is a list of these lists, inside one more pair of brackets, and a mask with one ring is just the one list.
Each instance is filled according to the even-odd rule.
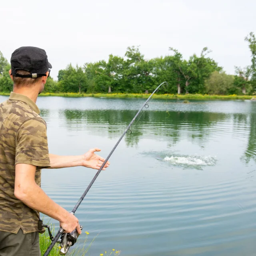
[[0,230],[17,234],[39,231],[39,212],[14,196],[15,164],[36,167],[35,181],[41,185],[41,168],[49,167],[46,123],[36,104],[11,92],[0,104]]

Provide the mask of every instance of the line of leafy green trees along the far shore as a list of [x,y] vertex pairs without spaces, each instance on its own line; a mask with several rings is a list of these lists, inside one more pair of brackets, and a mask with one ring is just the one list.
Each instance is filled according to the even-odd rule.
[[[108,61],[69,64],[59,70],[58,80],[47,79],[44,92],[78,93],[149,93],[163,81],[168,86],[160,93],[185,94],[253,94],[256,92],[256,38],[253,32],[245,41],[251,52],[251,64],[235,67],[235,75],[226,74],[218,63],[209,57],[211,52],[203,48],[200,55],[184,59],[172,47],[164,57],[146,59],[139,47],[128,47],[124,57],[109,55]],[[10,64],[0,52],[0,92],[12,91],[8,70]]]

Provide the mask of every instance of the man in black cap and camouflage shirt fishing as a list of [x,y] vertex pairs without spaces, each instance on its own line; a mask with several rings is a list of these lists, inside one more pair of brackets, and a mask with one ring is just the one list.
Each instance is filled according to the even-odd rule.
[[81,156],[48,154],[46,123],[39,116],[36,100],[50,68],[40,48],[21,47],[12,53],[13,92],[0,104],[0,256],[40,255],[39,212],[58,220],[65,232],[76,228],[81,234],[78,219],[40,188],[41,169],[99,169],[104,162],[94,154],[98,148]]

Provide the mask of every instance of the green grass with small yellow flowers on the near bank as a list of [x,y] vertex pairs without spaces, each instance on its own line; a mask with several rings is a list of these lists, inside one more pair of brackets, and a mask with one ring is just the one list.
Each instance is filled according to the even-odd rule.
[[[47,224],[48,225],[48,224]],[[54,236],[54,225],[52,225],[52,229],[51,229],[51,232],[52,232],[52,235]],[[84,244],[82,246],[82,248],[77,248],[78,243],[76,243],[74,246],[70,247],[68,253],[66,254],[66,256],[85,256],[85,255],[90,255],[90,252],[88,252],[88,250],[90,249],[92,243],[94,242],[94,240],[96,239],[96,237],[98,236],[95,236],[93,239],[92,239],[92,242],[90,242],[90,244],[87,245],[87,242],[88,242],[88,235],[90,233],[89,232],[83,232],[82,231],[82,234],[79,236],[79,238],[81,238],[81,236],[84,237],[85,235],[85,238],[84,238]],[[50,246],[51,244],[51,240],[49,238],[49,235],[48,235],[48,230],[46,230],[44,232],[44,234],[39,234],[39,244],[40,244],[40,251],[41,251],[41,254],[43,255],[47,248]],[[49,256],[59,256],[60,253],[60,249],[59,249],[59,246],[60,244],[55,244],[55,246],[52,248]],[[121,251],[120,250],[115,250],[115,249],[108,249],[108,250],[105,250],[104,252],[100,252],[99,255],[104,255],[104,256],[114,256],[114,255],[120,255]]]

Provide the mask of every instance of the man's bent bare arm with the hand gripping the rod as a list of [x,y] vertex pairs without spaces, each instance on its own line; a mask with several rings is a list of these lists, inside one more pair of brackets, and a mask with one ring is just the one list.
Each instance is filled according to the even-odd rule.
[[66,232],[71,232],[77,228],[80,233],[78,219],[44,193],[35,182],[35,173],[36,166],[34,165],[16,164],[14,196],[28,207],[58,220]]

